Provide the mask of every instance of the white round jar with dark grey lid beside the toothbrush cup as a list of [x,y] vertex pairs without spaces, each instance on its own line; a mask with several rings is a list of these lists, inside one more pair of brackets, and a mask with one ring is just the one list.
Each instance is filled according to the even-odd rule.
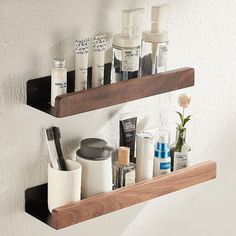
[[81,141],[76,155],[83,167],[82,198],[112,191],[112,151],[102,139]]

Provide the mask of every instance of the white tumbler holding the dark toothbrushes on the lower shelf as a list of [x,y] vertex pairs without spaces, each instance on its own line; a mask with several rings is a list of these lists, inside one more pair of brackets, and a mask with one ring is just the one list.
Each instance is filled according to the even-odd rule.
[[48,165],[48,209],[66,205],[81,199],[82,166],[72,160],[66,160],[68,171],[52,168]]

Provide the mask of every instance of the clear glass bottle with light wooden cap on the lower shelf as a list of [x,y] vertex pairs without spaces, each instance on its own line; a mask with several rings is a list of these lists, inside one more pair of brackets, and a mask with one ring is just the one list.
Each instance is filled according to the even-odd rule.
[[135,183],[135,164],[129,162],[130,149],[119,147],[118,162],[113,163],[114,189],[130,186]]

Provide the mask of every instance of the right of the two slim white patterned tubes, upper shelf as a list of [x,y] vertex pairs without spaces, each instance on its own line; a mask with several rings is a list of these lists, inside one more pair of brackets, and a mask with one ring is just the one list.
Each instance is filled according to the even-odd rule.
[[104,84],[104,62],[105,62],[106,36],[93,37],[93,65],[92,65],[92,87]]

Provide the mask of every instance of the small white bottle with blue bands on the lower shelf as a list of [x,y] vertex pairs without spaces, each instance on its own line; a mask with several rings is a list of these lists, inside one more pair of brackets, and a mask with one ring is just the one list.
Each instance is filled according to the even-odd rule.
[[154,151],[154,176],[170,172],[170,133],[167,130],[158,131],[157,144]]

